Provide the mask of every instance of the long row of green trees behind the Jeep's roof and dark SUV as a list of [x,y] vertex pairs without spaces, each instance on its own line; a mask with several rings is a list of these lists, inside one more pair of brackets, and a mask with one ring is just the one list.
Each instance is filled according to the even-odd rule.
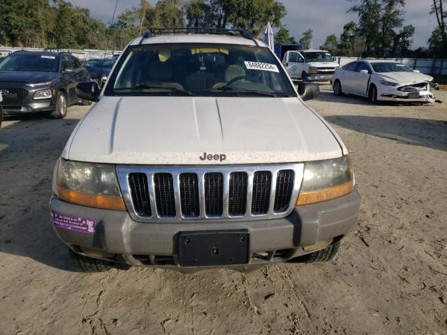
[[141,0],[105,24],[66,0],[0,0],[0,45],[121,50],[149,27],[236,28],[258,36],[285,15],[278,0]]

